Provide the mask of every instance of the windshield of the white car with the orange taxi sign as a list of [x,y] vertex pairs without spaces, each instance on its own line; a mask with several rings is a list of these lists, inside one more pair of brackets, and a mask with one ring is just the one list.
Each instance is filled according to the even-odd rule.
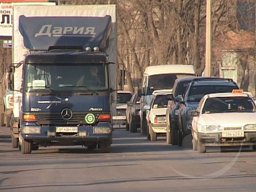
[[205,100],[202,113],[255,112],[255,104],[247,97],[220,97]]

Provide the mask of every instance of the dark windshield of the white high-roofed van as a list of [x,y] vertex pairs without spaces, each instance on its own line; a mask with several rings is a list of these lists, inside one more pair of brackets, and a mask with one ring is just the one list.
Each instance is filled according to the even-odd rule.
[[148,87],[151,90],[171,90],[173,88],[175,79],[181,77],[191,77],[194,74],[189,73],[167,73],[150,75],[148,79]]

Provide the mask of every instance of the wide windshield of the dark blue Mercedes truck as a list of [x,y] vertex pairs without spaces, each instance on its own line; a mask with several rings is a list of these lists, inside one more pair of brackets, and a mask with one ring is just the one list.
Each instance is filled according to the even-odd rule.
[[25,92],[107,90],[108,70],[103,64],[27,64],[24,68]]

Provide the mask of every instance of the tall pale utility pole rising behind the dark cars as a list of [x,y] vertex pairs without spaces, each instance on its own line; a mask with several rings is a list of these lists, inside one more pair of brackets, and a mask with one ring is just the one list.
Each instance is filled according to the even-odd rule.
[[211,76],[212,63],[212,0],[206,1],[206,35],[205,35],[205,76]]

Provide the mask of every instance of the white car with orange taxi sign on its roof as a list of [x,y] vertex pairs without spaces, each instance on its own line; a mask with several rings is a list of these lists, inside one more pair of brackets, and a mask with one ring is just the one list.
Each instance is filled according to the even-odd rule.
[[191,113],[193,150],[208,146],[253,146],[256,150],[256,105],[243,90],[206,94]]

